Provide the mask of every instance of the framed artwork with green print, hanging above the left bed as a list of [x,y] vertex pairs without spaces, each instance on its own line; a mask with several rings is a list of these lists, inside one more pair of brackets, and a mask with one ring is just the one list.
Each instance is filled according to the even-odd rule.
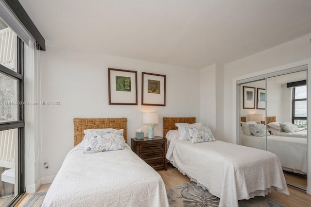
[[137,71],[108,68],[109,105],[137,105]]

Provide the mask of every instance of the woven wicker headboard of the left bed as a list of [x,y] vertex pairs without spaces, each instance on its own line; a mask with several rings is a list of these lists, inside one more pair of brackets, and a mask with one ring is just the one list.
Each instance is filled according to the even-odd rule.
[[86,129],[123,129],[123,136],[126,142],[126,118],[100,118],[100,119],[73,119],[74,146],[79,144],[84,138],[83,130]]

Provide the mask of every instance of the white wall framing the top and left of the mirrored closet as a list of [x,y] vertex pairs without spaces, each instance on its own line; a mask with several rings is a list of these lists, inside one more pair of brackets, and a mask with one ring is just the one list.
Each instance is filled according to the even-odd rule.
[[[295,62],[311,57],[311,34],[287,42],[275,48],[251,55],[224,66],[224,140],[236,142],[235,125],[235,81],[256,75],[297,66]],[[282,66],[286,66],[285,68]],[[218,80],[216,80],[218,82]]]

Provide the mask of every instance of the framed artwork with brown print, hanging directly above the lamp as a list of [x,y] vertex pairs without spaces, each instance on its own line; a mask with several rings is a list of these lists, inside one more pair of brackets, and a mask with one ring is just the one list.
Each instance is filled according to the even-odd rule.
[[165,106],[165,75],[141,73],[141,105]]

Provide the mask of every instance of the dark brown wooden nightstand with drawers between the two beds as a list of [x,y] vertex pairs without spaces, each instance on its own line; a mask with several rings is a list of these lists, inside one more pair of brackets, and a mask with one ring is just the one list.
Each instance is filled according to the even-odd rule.
[[155,170],[165,169],[167,171],[167,139],[155,137],[154,139],[131,139],[131,148],[141,159]]

